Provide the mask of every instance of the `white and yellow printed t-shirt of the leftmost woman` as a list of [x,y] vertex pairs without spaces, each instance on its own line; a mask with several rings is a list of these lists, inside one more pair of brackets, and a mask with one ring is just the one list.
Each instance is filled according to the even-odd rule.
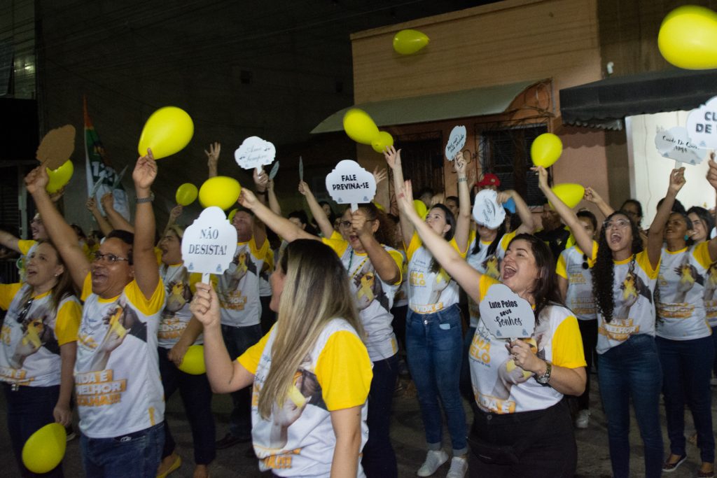
[[[27,284],[0,285],[0,381],[31,387],[60,385],[60,346],[77,340],[82,306],[74,295],[52,308],[52,292],[36,295]],[[21,319],[21,322],[17,322]]]

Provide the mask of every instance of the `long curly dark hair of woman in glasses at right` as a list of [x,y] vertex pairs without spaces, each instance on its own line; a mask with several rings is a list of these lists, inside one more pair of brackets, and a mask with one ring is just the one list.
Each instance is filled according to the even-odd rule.
[[[622,216],[630,221],[630,231],[632,231],[632,245],[630,252],[632,260],[630,261],[630,271],[635,269],[635,254],[642,252],[642,238],[640,237],[640,229],[630,216],[622,211],[615,211],[605,218],[607,223],[614,216]],[[605,322],[612,320],[612,312],[614,312],[615,300],[612,287],[615,280],[615,266],[612,262],[612,249],[607,245],[607,228],[603,225],[600,229],[600,235],[597,240],[597,259],[592,268],[592,295],[595,297],[595,305],[597,310]]]

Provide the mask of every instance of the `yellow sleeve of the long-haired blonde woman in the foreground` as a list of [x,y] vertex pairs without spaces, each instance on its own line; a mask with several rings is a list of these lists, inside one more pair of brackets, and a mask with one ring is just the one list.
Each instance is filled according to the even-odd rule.
[[315,372],[328,411],[363,405],[374,377],[366,345],[348,330],[331,334]]

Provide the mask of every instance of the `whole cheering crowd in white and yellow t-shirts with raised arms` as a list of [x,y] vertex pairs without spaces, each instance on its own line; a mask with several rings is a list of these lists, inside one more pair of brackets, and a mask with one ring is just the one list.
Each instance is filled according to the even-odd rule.
[[[207,151],[209,176],[219,152],[218,144]],[[31,472],[22,447],[46,424],[71,426],[74,407],[88,477],[166,477],[181,466],[164,420],[179,390],[195,478],[209,476],[217,449],[250,441],[260,469],[277,476],[397,477],[391,402],[407,365],[426,443],[419,477],[449,459],[448,478],[574,476],[574,428],[589,426],[593,367],[614,477],[634,476],[630,401],[646,477],[677,469],[688,439],[701,451],[698,477],[714,476],[717,239],[713,214],[677,200],[683,168],[665,178],[647,230],[638,201],[614,210],[586,188],[601,222],[566,206],[547,171],[534,168],[549,201],[537,231],[526,201],[500,191],[497,177],[485,173],[472,191],[460,155],[457,196],[422,194],[420,214],[401,151],[384,156],[393,207],[366,203],[336,215],[300,181],[311,219],[283,216],[273,181],[255,171],[254,191],[242,189],[229,219],[234,260],[209,283],[183,262],[181,206],[156,227],[151,150],[132,175],[134,222],[111,195],[101,209],[90,198],[99,228],[90,236],[57,209],[45,168],[31,171],[32,239],[0,231],[0,244],[22,254],[20,281],[0,285],[0,382],[20,474],[63,476],[62,463]],[[380,183],[388,174],[374,176]],[[713,153],[707,181],[717,191]],[[478,188],[511,204],[499,226],[473,220]],[[481,302],[500,284],[530,305],[530,337],[497,337],[481,318]],[[206,373],[180,370],[191,345],[204,345]],[[233,401],[218,441],[213,393]],[[694,437],[685,437],[685,408]]]

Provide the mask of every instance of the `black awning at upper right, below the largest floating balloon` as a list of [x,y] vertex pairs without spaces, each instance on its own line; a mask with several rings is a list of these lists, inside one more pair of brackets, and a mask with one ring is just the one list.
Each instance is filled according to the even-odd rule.
[[692,110],[715,95],[717,70],[668,70],[560,90],[560,111],[565,124],[619,130],[626,116]]

